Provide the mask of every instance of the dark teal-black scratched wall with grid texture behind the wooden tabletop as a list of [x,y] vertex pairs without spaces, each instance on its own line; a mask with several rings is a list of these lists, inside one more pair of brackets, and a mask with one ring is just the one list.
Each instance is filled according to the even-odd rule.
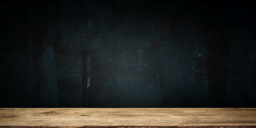
[[256,107],[249,1],[0,6],[0,107]]

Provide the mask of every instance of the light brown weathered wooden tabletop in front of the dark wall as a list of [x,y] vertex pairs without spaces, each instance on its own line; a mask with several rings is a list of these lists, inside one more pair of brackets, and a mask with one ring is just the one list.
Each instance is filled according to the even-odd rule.
[[0,108],[0,127],[256,127],[256,108]]

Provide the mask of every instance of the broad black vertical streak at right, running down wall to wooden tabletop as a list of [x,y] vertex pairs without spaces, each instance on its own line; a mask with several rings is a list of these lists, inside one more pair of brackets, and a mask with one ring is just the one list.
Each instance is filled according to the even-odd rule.
[[[226,83],[228,78],[228,49],[231,30],[226,25],[226,16],[221,16],[220,5],[207,2],[202,12],[204,19],[204,43],[207,48],[206,71],[208,76],[209,106],[226,106]],[[210,15],[209,15],[210,14]],[[216,18],[218,17],[218,18]],[[217,29],[216,29],[217,28]],[[228,28],[228,29],[227,29]]]

